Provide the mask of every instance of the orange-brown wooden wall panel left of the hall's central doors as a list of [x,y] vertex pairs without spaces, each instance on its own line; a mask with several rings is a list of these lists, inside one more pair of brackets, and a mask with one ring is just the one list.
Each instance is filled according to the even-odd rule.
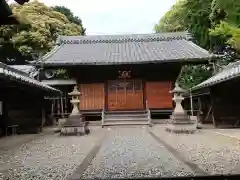
[[80,110],[101,110],[104,107],[103,83],[80,84]]

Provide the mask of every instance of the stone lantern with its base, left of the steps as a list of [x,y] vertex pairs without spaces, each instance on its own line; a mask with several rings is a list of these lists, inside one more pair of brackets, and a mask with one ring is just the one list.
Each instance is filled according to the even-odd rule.
[[90,132],[88,122],[84,121],[84,118],[79,111],[79,97],[81,93],[78,91],[77,86],[75,86],[73,91],[68,93],[68,95],[72,97],[70,102],[73,105],[73,109],[61,130],[61,135],[88,134]]

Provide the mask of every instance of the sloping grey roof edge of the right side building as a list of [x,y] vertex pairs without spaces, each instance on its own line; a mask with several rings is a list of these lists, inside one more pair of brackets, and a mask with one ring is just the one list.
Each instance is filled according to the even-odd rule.
[[234,79],[239,76],[240,76],[240,61],[237,61],[227,65],[222,71],[218,72],[216,75],[210,77],[206,81],[203,81],[202,83],[193,87],[191,90],[198,90],[201,88],[210,87]]

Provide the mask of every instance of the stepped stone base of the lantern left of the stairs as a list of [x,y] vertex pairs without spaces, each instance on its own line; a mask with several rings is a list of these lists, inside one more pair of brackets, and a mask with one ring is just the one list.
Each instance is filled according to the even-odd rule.
[[83,121],[81,114],[70,115],[61,129],[60,135],[81,136],[90,133],[88,122]]

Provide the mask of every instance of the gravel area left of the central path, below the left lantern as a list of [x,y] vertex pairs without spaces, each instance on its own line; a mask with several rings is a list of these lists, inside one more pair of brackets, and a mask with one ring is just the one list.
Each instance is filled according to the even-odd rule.
[[17,150],[0,150],[0,179],[65,180],[72,175],[104,132],[99,129],[88,136],[78,137],[45,135]]

